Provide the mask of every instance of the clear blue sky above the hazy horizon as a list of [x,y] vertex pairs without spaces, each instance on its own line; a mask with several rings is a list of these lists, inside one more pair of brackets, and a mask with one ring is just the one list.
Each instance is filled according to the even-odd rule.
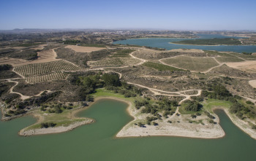
[[255,0],[0,0],[0,30],[254,30]]

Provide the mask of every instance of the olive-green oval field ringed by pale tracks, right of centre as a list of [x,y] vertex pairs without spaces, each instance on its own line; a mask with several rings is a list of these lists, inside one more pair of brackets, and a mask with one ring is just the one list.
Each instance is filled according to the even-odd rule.
[[219,66],[214,58],[177,56],[175,58],[167,58],[162,60],[170,66],[184,68],[189,71],[207,71],[209,68]]

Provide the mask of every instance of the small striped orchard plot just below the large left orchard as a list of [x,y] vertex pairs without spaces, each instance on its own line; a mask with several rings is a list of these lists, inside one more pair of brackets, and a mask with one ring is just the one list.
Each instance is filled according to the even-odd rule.
[[39,83],[39,82],[48,82],[57,79],[66,79],[68,74],[63,72],[54,72],[51,74],[39,75],[39,76],[29,76],[26,77],[26,82],[29,83]]

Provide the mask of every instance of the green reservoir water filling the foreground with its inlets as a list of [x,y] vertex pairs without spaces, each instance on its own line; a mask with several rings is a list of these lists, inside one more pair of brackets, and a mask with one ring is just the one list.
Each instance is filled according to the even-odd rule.
[[224,111],[216,111],[226,133],[224,138],[114,138],[132,120],[126,108],[127,104],[120,101],[97,101],[79,114],[97,122],[45,136],[18,136],[18,130],[36,121],[32,117],[0,122],[0,160],[251,161],[256,158],[256,141],[233,125]]

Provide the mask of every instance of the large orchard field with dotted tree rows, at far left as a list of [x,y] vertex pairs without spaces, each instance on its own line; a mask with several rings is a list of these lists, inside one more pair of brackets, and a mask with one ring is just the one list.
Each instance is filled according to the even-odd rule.
[[51,61],[47,63],[34,63],[24,66],[17,66],[14,71],[28,77],[42,74],[50,74],[53,71],[76,71],[81,68],[65,60]]

